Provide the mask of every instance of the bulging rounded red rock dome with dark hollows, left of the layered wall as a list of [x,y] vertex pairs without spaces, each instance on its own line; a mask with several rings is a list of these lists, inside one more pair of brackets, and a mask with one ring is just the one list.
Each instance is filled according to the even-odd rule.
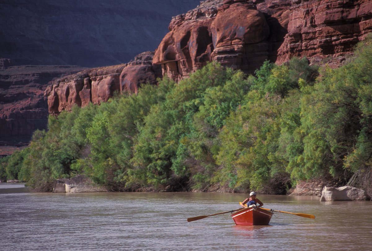
[[176,80],[209,61],[253,73],[265,60],[276,61],[290,5],[286,0],[205,1],[172,19],[153,63]]

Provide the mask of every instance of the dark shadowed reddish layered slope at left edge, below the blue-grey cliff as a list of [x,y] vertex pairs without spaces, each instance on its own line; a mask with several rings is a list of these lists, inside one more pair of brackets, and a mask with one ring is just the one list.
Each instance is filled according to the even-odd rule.
[[15,66],[0,70],[0,155],[6,155],[2,146],[26,145],[33,131],[47,129],[44,91],[49,81],[81,70],[63,66]]

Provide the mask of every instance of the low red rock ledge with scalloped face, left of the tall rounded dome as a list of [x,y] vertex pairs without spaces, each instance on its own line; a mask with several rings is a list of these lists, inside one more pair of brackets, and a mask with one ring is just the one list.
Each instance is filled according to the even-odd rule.
[[161,68],[152,64],[153,56],[154,52],[143,52],[128,64],[93,68],[52,81],[44,93],[48,112],[58,114],[75,104],[100,104],[115,93],[136,93],[140,84],[156,84]]

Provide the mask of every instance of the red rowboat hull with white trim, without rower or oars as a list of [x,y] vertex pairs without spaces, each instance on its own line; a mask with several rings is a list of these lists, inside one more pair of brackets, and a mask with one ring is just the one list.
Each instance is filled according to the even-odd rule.
[[270,211],[253,206],[232,213],[231,217],[236,225],[253,226],[269,225],[272,215],[273,213]]

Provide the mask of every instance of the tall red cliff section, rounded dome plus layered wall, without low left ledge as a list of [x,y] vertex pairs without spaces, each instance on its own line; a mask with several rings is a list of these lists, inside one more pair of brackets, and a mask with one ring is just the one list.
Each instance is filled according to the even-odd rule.
[[265,60],[340,65],[372,29],[370,0],[211,0],[172,19],[153,63],[177,80],[206,62],[250,74]]

